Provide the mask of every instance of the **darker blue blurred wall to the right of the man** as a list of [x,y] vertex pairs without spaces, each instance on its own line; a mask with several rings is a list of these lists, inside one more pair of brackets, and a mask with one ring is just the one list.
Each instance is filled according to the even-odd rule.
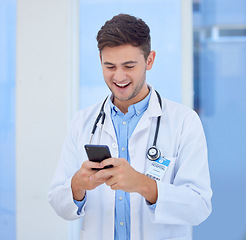
[[[246,0],[206,0],[199,14],[200,26],[238,27],[246,23]],[[213,212],[194,228],[194,239],[245,240],[246,34],[196,44],[195,105],[207,137],[214,196]]]

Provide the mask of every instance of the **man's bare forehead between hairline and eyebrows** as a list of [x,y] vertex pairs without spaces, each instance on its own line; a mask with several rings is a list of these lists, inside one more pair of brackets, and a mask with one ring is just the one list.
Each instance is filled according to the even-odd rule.
[[144,61],[144,54],[139,47],[122,45],[117,47],[105,47],[101,51],[102,61],[111,63],[123,63],[127,61]]

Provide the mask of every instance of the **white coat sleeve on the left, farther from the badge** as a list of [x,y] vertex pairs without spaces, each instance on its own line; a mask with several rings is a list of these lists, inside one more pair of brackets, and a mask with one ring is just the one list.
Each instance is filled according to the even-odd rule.
[[77,214],[78,206],[73,201],[71,180],[81,167],[78,161],[77,136],[80,118],[77,113],[71,122],[68,136],[64,142],[60,160],[54,178],[48,190],[48,201],[56,213],[66,220],[75,220],[83,216]]

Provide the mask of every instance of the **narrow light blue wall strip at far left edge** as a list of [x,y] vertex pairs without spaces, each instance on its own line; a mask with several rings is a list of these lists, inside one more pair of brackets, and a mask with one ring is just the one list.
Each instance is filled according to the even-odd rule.
[[0,239],[14,240],[16,2],[0,1]]

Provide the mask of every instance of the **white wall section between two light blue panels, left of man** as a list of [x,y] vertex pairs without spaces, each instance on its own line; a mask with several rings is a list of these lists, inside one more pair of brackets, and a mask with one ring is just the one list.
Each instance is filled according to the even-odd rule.
[[48,204],[47,189],[77,106],[77,30],[71,27],[76,2],[17,0],[18,240],[68,238],[68,224]]

